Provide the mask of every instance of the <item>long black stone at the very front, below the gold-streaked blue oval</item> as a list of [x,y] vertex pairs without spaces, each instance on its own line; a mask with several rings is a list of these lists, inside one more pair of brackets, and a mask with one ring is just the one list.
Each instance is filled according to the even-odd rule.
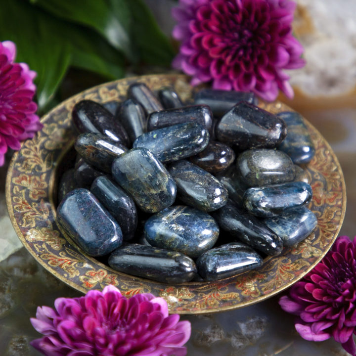
[[163,283],[189,282],[197,272],[194,261],[179,252],[139,244],[118,248],[108,263],[120,272]]

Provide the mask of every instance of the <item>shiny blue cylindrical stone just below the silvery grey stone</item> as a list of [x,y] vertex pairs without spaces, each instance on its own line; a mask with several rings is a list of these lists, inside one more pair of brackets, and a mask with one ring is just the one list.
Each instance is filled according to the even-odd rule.
[[299,181],[249,188],[243,199],[251,214],[268,218],[282,214],[285,209],[308,204],[312,199],[312,187]]

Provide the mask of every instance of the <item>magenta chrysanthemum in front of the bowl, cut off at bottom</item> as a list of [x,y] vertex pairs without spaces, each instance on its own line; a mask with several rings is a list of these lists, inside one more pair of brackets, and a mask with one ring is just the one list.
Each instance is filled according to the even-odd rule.
[[55,310],[37,309],[31,318],[44,334],[31,345],[46,356],[184,356],[189,321],[168,314],[167,303],[152,294],[130,299],[109,285],[80,298],[58,298]]

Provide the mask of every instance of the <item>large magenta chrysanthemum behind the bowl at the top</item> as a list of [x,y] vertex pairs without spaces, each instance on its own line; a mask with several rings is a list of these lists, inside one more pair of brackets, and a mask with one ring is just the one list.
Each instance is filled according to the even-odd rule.
[[293,97],[283,69],[304,66],[302,45],[292,36],[295,3],[289,0],[180,0],[173,9],[181,41],[173,67],[192,85],[253,91],[274,100],[278,89]]

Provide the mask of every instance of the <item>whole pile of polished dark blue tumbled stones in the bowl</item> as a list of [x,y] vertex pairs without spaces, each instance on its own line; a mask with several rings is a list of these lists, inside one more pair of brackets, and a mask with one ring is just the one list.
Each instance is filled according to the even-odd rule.
[[214,281],[312,232],[298,165],[315,150],[300,114],[271,114],[247,92],[203,89],[188,106],[171,88],[158,96],[135,83],[121,103],[74,106],[79,155],[57,221],[86,254],[165,283]]

